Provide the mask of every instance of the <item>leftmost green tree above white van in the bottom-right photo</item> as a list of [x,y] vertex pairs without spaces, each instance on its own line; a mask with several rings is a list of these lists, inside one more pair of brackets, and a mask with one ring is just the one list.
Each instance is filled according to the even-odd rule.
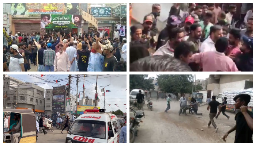
[[152,84],[154,78],[148,78],[146,74],[130,74],[130,90],[132,89],[143,89],[150,90],[154,89]]

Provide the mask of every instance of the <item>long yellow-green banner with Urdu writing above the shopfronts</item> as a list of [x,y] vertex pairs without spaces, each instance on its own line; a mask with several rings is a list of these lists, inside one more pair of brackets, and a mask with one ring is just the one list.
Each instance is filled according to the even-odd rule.
[[79,14],[79,3],[11,3],[12,15]]

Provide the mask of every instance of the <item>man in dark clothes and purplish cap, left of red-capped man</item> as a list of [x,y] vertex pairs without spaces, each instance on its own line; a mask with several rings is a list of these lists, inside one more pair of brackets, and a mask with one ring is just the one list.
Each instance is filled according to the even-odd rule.
[[167,19],[166,27],[160,32],[158,35],[158,41],[157,41],[157,47],[155,50],[158,50],[160,47],[166,44],[166,42],[169,40],[169,31],[172,28],[178,27],[178,25],[181,23],[181,21],[178,19],[177,16],[171,15]]

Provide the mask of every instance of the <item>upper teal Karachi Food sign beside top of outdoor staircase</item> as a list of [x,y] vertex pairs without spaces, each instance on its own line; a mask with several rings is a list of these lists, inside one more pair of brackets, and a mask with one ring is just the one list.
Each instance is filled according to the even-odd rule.
[[94,17],[111,17],[111,8],[91,7],[91,15]]

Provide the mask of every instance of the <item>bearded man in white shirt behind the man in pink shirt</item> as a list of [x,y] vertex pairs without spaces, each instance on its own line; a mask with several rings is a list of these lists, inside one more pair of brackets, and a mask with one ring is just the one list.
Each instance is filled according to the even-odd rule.
[[222,27],[218,25],[211,26],[209,37],[202,43],[199,51],[215,51],[215,42],[222,37]]

